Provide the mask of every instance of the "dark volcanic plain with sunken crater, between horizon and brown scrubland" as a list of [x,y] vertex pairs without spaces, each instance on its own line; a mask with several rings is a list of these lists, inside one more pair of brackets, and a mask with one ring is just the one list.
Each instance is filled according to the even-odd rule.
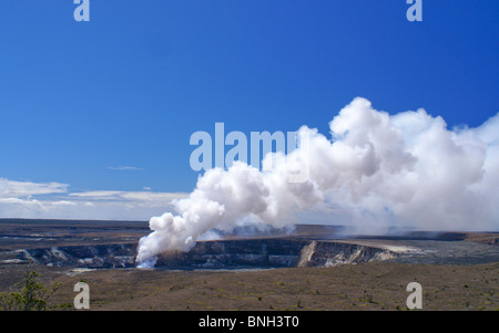
[[[411,231],[347,236],[342,227],[298,225],[289,231],[221,235],[189,252],[159,256],[156,269],[266,269],[335,267],[371,261],[486,263],[499,261],[499,235]],[[144,222],[0,221],[0,263],[52,267],[134,268]],[[248,235],[251,233],[251,236]]]

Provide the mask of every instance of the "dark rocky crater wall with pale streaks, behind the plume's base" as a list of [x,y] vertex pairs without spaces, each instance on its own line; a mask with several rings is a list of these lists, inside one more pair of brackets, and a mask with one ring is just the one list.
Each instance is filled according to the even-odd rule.
[[[131,268],[135,243],[52,247],[17,250],[18,262],[81,268]],[[156,268],[231,269],[334,267],[396,257],[387,249],[358,243],[292,239],[200,241],[189,252],[171,251],[157,258]]]

